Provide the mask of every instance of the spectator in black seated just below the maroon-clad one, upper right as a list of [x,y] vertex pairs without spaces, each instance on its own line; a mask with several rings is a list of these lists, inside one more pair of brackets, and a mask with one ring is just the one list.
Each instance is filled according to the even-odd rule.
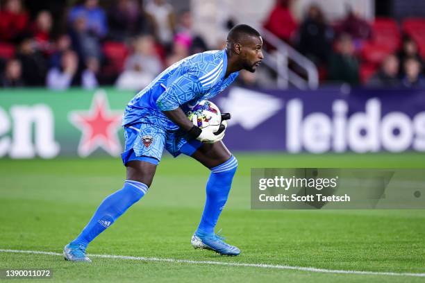
[[331,56],[328,78],[339,82],[358,85],[359,64],[350,35],[341,35],[337,41],[337,53]]

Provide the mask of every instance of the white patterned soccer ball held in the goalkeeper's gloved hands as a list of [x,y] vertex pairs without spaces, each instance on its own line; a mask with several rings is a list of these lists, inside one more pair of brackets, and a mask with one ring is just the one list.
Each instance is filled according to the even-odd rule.
[[194,108],[189,110],[187,116],[194,126],[199,128],[210,127],[213,132],[217,132],[220,123],[222,123],[222,113],[217,105],[211,101],[200,101]]

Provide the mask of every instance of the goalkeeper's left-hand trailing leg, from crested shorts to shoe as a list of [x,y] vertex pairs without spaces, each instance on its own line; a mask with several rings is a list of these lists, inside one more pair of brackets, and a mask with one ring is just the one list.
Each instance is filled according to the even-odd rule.
[[[143,141],[142,137],[149,137],[150,142]],[[126,141],[128,144],[122,155],[127,167],[124,187],[105,198],[81,234],[65,246],[65,259],[90,261],[85,255],[88,244],[147,193],[164,148],[164,135],[152,126],[133,127],[126,129]]]

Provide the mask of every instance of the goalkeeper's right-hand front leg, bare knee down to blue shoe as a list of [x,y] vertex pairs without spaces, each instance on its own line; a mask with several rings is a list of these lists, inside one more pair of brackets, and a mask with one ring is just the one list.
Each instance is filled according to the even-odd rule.
[[226,204],[238,162],[222,141],[215,144],[202,144],[191,156],[211,170],[206,185],[206,203],[201,222],[191,240],[192,246],[214,250],[222,255],[239,255],[238,248],[225,243],[214,232]]

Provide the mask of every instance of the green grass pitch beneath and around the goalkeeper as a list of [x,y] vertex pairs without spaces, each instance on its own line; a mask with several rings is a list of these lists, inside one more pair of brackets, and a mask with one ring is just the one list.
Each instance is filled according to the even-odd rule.
[[[425,273],[425,210],[258,211],[250,209],[249,200],[251,167],[425,168],[424,154],[236,156],[240,166],[217,228],[242,250],[239,257],[190,246],[203,209],[208,170],[188,157],[164,157],[148,194],[101,234],[88,253]],[[123,180],[119,159],[0,160],[0,249],[62,252]],[[0,252],[0,268],[53,269],[53,280],[37,282],[425,281],[425,277],[92,259],[92,264],[76,264],[57,255]]]

